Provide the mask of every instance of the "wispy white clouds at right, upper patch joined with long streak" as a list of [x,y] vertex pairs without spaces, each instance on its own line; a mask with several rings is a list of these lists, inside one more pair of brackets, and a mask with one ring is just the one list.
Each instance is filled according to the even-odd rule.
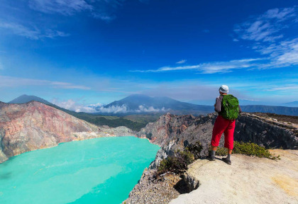
[[[287,23],[285,23],[287,21]],[[298,38],[283,40],[284,34],[280,30],[289,28],[298,22],[297,6],[293,8],[274,8],[266,11],[260,16],[254,16],[236,25],[234,31],[239,39],[253,40],[253,49],[262,55],[263,58],[230,60],[226,62],[206,62],[195,65],[178,67],[160,67],[158,69],[130,70],[130,72],[171,72],[178,70],[194,70],[197,74],[215,74],[232,72],[233,69],[272,69],[278,67],[289,67],[298,64]],[[268,42],[271,42],[268,45]],[[181,62],[181,63],[180,63]],[[181,60],[177,64],[184,62]]]

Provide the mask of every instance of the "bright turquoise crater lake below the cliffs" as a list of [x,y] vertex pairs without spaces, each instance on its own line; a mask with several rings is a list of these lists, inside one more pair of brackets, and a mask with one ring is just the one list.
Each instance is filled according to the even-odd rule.
[[121,203],[158,149],[137,137],[101,137],[11,157],[0,164],[0,203]]

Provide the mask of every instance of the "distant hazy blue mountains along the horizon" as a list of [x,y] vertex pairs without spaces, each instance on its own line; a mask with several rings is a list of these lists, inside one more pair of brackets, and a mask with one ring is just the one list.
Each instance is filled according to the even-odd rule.
[[[26,97],[21,97],[21,96],[20,97],[27,98],[27,101],[29,99],[32,99],[30,98],[31,96],[28,96],[28,95],[22,95],[22,96],[26,96]],[[45,103],[45,104],[50,103],[48,101],[45,101],[43,98],[39,98],[38,96],[32,96],[32,97],[35,97],[35,99],[39,100],[41,103]],[[17,98],[15,98],[12,101],[15,101],[16,99]],[[20,100],[16,100],[16,101],[20,101]],[[23,101],[26,101],[26,100],[23,100]],[[11,103],[11,101],[9,103]],[[50,103],[47,105],[53,106],[62,111],[70,113],[72,115],[77,115],[76,114],[77,112],[72,111],[73,112],[72,113],[70,110],[56,106],[53,103]],[[114,101],[112,103],[107,104],[106,106],[98,107],[98,108],[99,108],[97,109],[98,111],[101,110],[100,108],[105,108],[104,110],[110,110],[114,108],[115,110],[118,110],[118,112],[114,113],[112,111],[112,112],[90,113],[90,114],[101,115],[104,113],[104,115],[126,116],[126,115],[132,115],[132,114],[169,112],[176,115],[192,114],[197,116],[197,115],[206,115],[209,113],[214,113],[214,106],[197,105],[197,104],[177,101],[175,99],[172,99],[166,96],[151,97],[143,94],[133,94],[131,96],[127,96],[126,98],[122,98],[121,100]],[[248,113],[260,112],[260,113],[275,113],[275,114],[281,114],[281,115],[298,115],[298,107],[245,105],[245,106],[241,106],[241,108],[242,108],[242,111],[248,112]]]

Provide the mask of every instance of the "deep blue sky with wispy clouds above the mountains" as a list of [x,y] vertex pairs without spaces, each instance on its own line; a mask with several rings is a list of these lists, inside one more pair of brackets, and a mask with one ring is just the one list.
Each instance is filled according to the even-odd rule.
[[[295,4],[296,3],[296,4]],[[0,0],[0,101],[298,101],[297,1]]]

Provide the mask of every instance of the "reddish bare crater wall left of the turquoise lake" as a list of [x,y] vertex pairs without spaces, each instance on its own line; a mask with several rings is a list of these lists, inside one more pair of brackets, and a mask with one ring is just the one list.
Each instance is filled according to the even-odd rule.
[[11,157],[33,149],[53,147],[60,142],[76,140],[73,132],[96,130],[95,125],[43,103],[0,102],[0,157],[3,154]]

